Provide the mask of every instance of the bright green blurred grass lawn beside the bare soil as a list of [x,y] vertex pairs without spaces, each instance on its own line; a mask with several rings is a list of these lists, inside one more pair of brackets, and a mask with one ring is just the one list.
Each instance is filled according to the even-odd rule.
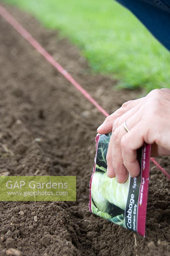
[[112,0],[4,0],[59,29],[76,44],[92,72],[120,87],[170,88],[170,54],[126,9]]

